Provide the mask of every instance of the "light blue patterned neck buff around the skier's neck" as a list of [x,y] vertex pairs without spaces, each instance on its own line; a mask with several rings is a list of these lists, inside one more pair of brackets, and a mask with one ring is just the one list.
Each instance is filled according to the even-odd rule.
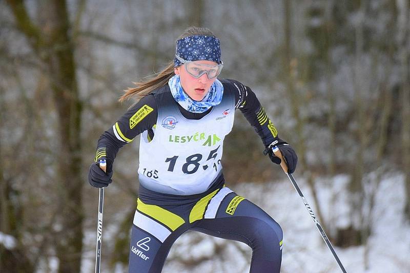
[[170,78],[168,85],[170,86],[172,96],[179,105],[192,113],[203,113],[212,106],[218,105],[222,100],[223,86],[218,79],[214,81],[207,95],[201,101],[193,100],[183,91],[179,75]]

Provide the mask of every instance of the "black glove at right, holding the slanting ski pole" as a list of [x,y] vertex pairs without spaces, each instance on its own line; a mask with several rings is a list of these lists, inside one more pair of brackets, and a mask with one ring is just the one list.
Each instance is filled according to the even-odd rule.
[[288,174],[295,172],[296,164],[298,163],[298,156],[296,155],[295,150],[293,150],[293,148],[288,143],[281,140],[280,138],[272,142],[265,149],[265,151],[263,151],[263,154],[269,154],[269,158],[272,160],[272,162],[280,164],[280,158],[275,156],[275,154],[273,153],[273,149],[276,147],[279,149],[280,153],[286,161],[285,163],[288,166]]

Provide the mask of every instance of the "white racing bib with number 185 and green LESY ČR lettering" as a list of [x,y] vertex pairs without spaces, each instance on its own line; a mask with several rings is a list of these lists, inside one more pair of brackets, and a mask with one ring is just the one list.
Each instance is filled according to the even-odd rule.
[[[168,86],[167,86],[168,87]],[[205,192],[222,170],[222,144],[234,122],[235,97],[222,101],[199,120],[180,113],[169,89],[155,94],[158,118],[154,138],[141,134],[138,178],[149,190],[192,195]]]

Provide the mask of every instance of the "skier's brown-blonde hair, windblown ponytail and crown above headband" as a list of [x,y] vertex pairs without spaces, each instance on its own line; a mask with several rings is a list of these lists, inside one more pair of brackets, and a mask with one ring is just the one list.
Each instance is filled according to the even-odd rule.
[[[187,28],[179,37],[179,39],[193,36],[193,35],[208,35],[208,36],[214,36],[215,34],[207,29],[207,28],[199,28],[199,27],[189,27]],[[118,101],[123,102],[125,100],[134,98],[135,101],[140,100],[141,98],[147,96],[150,94],[152,91],[154,91],[157,88],[165,86],[169,79],[174,76],[174,61],[170,61],[168,66],[163,69],[162,71],[155,73],[148,78],[148,80],[141,80],[138,82],[133,82],[135,87],[134,88],[128,88],[124,90],[124,94],[118,99]],[[151,78],[151,79],[149,79]]]

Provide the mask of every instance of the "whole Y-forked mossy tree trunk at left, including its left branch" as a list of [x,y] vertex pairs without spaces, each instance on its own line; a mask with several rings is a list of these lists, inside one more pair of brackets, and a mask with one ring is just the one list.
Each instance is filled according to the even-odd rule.
[[70,23],[65,1],[47,3],[47,28],[35,26],[24,3],[8,0],[18,29],[23,32],[33,51],[48,68],[51,90],[58,116],[59,149],[57,155],[57,182],[60,185],[59,233],[55,239],[59,273],[79,272],[83,248],[83,206],[80,177],[81,102],[75,75],[74,47],[70,40]]

